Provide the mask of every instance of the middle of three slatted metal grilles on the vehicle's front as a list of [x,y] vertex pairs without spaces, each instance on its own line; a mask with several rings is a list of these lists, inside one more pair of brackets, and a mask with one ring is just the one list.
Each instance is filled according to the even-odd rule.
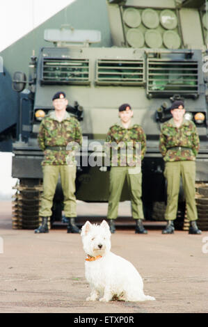
[[96,65],[96,83],[141,85],[144,83],[144,62],[100,59]]

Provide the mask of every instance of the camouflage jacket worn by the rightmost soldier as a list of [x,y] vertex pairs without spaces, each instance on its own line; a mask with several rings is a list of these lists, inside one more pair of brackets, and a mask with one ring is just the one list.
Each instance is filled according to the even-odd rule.
[[200,140],[194,122],[184,119],[182,125],[176,127],[171,118],[163,123],[159,150],[164,161],[195,161],[199,148]]

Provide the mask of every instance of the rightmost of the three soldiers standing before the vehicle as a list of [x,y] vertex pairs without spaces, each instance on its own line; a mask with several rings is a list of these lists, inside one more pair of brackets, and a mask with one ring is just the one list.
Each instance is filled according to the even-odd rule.
[[198,154],[200,141],[195,124],[184,119],[184,102],[175,101],[170,107],[173,118],[164,122],[161,127],[159,149],[166,162],[167,207],[165,218],[168,221],[163,234],[174,232],[173,221],[177,215],[180,177],[186,198],[187,216],[191,221],[189,234],[201,234],[196,220],[198,213],[195,206],[195,157]]

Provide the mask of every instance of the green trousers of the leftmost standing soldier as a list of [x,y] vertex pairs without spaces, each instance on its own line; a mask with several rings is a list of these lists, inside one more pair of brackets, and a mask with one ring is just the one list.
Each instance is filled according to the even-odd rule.
[[65,216],[72,218],[77,216],[77,202],[74,196],[76,166],[42,166],[43,173],[43,193],[41,197],[40,216],[50,217],[51,207],[53,205],[54,193],[58,182],[58,176],[61,177],[61,186],[64,196]]

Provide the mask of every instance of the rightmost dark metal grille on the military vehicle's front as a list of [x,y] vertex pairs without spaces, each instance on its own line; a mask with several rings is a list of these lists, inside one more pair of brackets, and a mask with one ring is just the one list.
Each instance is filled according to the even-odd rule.
[[147,59],[147,94],[198,95],[197,61]]

